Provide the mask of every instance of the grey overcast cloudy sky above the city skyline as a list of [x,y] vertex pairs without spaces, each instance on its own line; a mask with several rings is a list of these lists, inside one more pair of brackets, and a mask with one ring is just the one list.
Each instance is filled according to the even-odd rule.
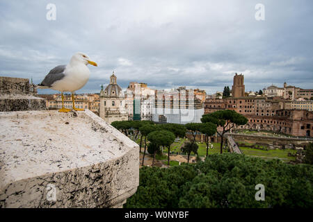
[[[48,3],[56,20],[47,20]],[[264,5],[265,20],[255,19]],[[112,70],[118,84],[185,85],[223,91],[234,73],[246,91],[271,84],[313,88],[313,1],[0,1],[0,76],[33,78],[87,53],[99,92]],[[41,89],[39,93],[53,93]]]

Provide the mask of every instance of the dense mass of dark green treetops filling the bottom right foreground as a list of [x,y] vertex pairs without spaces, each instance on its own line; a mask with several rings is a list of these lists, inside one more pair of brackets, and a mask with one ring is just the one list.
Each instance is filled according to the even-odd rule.
[[[236,153],[209,155],[168,169],[142,167],[136,194],[124,207],[296,208],[313,206],[313,166]],[[255,200],[255,185],[265,200]]]

